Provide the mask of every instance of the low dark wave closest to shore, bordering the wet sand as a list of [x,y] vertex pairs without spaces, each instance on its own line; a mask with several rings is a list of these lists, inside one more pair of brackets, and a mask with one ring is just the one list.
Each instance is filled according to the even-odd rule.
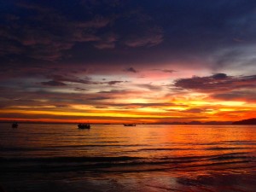
[[[229,166],[230,165],[230,166]],[[162,171],[179,171],[179,172],[195,172],[200,170],[219,170],[224,169],[255,169],[255,163],[251,160],[235,160],[224,162],[210,162],[203,161],[199,163],[191,162],[144,162],[144,161],[131,161],[125,162],[96,162],[93,164],[23,164],[17,165],[1,165],[1,172],[162,172]]]

